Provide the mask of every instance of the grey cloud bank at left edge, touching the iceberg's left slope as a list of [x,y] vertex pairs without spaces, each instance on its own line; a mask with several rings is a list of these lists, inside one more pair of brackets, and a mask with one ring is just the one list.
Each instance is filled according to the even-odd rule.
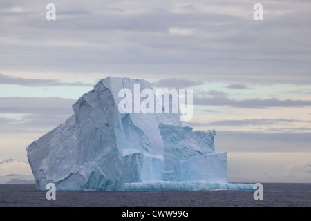
[[74,99],[59,97],[0,97],[0,133],[46,133],[73,115]]

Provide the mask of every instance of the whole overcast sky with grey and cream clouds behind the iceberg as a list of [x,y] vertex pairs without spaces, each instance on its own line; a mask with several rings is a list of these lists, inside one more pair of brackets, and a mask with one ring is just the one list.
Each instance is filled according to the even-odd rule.
[[[46,5],[55,4],[55,21]],[[254,4],[263,20],[254,20]],[[0,1],[0,158],[108,76],[194,90],[230,182],[311,182],[310,1]]]

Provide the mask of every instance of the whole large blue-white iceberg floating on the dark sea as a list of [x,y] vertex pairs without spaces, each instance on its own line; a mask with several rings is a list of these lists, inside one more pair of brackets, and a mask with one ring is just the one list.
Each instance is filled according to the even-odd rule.
[[215,153],[214,130],[194,131],[179,111],[140,108],[159,105],[163,96],[144,79],[100,80],[66,122],[26,148],[37,189],[254,189],[228,184],[227,153]]

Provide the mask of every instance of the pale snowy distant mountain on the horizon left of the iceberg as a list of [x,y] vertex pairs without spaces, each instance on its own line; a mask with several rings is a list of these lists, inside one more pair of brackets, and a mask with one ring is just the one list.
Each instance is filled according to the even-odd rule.
[[0,160],[0,184],[33,183],[30,165],[15,159]]

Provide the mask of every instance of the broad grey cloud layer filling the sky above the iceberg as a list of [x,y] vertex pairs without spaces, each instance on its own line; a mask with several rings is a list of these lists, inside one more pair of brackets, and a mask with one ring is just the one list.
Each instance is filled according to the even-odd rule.
[[[199,2],[205,7],[210,3]],[[263,22],[252,20],[248,1],[234,6],[249,7],[249,19],[221,11],[200,12],[196,3],[185,4],[186,13],[177,14],[171,12],[171,5],[167,1],[62,1],[57,21],[48,22],[44,3],[6,1],[3,8],[21,6],[32,14],[11,15],[0,23],[4,39],[0,43],[1,71],[48,67],[55,72],[84,74],[149,78],[172,74],[191,76],[194,81],[311,84],[310,48],[305,47],[311,43],[310,4],[297,10],[294,3],[265,3],[267,9],[281,7],[286,13],[265,17]],[[229,8],[231,3],[221,5]],[[134,12],[128,11],[131,9]],[[193,32],[171,35],[169,28]]]

